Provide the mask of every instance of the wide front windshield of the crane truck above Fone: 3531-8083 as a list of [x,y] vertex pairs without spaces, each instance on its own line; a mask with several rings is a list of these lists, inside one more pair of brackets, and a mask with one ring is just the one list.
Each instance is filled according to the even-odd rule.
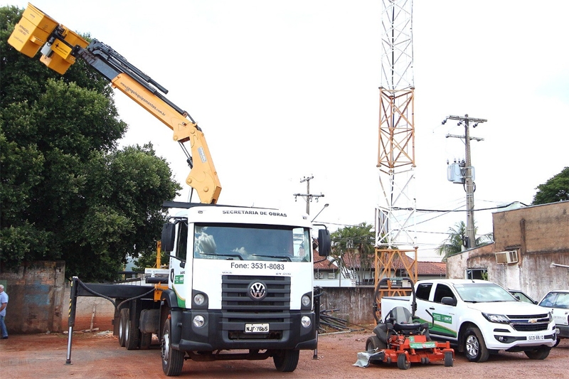
[[193,257],[214,260],[310,262],[309,228],[282,225],[196,224]]

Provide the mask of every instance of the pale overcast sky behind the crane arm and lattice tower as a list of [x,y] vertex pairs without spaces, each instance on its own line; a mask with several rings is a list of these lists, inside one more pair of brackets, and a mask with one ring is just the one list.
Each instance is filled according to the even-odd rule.
[[[27,1],[3,1],[20,8]],[[332,230],[374,224],[378,186],[381,1],[31,1],[107,43],[169,90],[206,134],[223,190],[218,203],[304,211]],[[471,130],[475,208],[529,204],[569,166],[568,1],[415,1],[415,170],[420,209],[465,208],[447,181],[464,159],[449,114],[487,119]],[[176,179],[188,174],[170,129],[122,93],[122,145],[152,142]],[[184,187],[179,201],[187,201]],[[197,199],[197,197],[196,197]],[[197,200],[196,200],[197,201]],[[418,213],[420,260],[462,213]],[[491,233],[491,211],[475,213]]]

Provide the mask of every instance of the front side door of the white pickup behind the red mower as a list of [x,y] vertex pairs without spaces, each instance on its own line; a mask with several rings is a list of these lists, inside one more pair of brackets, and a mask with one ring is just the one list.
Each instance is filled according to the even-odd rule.
[[431,325],[429,329],[431,335],[457,339],[458,315],[455,311],[456,306],[442,304],[443,297],[454,299],[454,304],[456,304],[456,295],[447,284],[442,283],[437,283],[436,287],[431,290],[431,293],[432,299],[428,301],[428,308],[425,310],[427,316],[430,317],[427,321]]

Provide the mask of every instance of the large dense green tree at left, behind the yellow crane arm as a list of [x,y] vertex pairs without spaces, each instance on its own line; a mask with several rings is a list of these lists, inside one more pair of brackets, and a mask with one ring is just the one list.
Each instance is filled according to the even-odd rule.
[[105,78],[8,45],[22,11],[0,8],[0,265],[65,260],[68,276],[115,279],[127,255],[154,254],[181,187],[151,144],[117,150],[127,124]]

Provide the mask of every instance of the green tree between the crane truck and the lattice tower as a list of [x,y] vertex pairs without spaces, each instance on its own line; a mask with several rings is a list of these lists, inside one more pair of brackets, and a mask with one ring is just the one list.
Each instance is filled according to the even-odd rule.
[[376,233],[368,223],[346,226],[331,233],[333,243],[332,256],[341,260],[344,267],[359,263],[359,267],[351,267],[358,282],[372,277],[375,262]]

